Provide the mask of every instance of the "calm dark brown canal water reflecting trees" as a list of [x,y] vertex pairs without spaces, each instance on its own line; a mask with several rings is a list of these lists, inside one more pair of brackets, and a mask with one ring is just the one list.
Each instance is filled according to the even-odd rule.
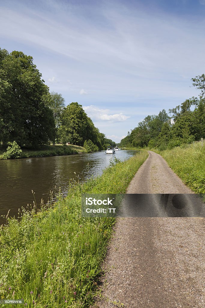
[[[83,182],[91,176],[101,175],[112,157],[126,160],[134,154],[135,151],[117,151],[116,154],[105,154],[105,151],[101,151],[69,156],[0,160],[0,216],[6,215],[9,209],[10,216],[16,216],[18,208],[33,204],[32,189],[37,204],[40,204],[41,198],[47,203],[50,191],[53,191],[55,196],[59,187],[66,196],[69,179],[77,179],[78,176],[79,181]],[[2,217],[0,220],[2,223]]]

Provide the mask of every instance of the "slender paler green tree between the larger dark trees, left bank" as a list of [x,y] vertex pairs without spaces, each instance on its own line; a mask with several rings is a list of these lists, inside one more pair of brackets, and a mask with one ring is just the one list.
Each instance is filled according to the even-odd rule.
[[61,125],[62,121],[62,113],[63,108],[65,107],[65,99],[62,95],[57,92],[51,92],[45,95],[44,97],[45,104],[48,106],[53,112],[53,120],[54,120],[54,127],[53,127],[53,145],[55,145],[57,132]]

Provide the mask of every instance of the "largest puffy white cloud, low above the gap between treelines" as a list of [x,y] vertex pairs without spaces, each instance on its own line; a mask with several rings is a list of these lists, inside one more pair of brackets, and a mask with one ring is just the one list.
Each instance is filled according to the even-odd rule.
[[109,109],[101,109],[94,105],[84,106],[83,109],[93,121],[124,122],[130,118],[129,116],[124,115],[122,112],[116,114],[108,114]]

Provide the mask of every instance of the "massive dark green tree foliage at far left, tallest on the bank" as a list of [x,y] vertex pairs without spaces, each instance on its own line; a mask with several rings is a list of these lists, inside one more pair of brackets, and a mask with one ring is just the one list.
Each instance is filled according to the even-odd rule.
[[33,148],[47,144],[53,138],[52,111],[43,101],[48,87],[33,58],[0,49],[0,59],[0,142],[16,140]]

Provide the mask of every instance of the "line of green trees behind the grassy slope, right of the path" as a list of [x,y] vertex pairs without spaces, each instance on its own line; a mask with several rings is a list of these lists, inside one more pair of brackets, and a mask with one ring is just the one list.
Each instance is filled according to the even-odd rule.
[[[201,90],[199,98],[186,99],[181,105],[148,115],[120,141],[120,147],[149,147],[165,150],[205,137],[205,75],[191,79]],[[193,106],[191,108],[191,106]],[[192,110],[191,110],[192,109]],[[194,110],[193,110],[194,109]]]

